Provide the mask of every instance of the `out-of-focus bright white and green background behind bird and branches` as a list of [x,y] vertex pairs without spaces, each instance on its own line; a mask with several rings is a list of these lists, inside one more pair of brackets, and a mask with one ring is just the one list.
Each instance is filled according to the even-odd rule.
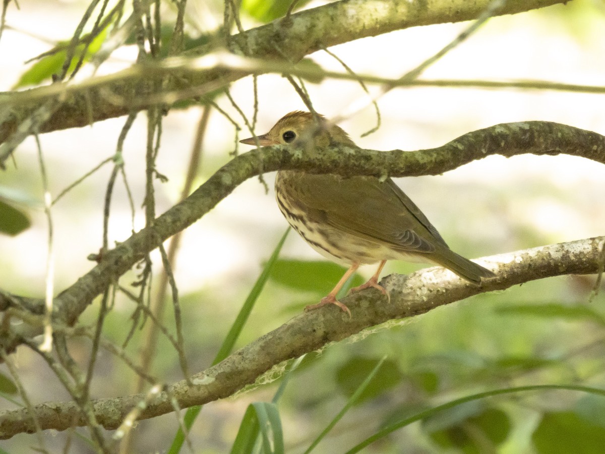
[[[325,3],[314,1],[305,7]],[[82,1],[53,0],[20,2],[19,9],[9,5],[8,27],[0,40],[0,90],[15,87],[31,67],[24,64],[25,60],[58,41],[70,39],[86,5]],[[218,1],[190,1],[188,33],[195,36],[215,30],[223,20],[222,8]],[[170,7],[166,5],[166,9]],[[244,28],[261,23],[246,13],[245,5],[241,19]],[[330,50],[356,73],[399,77],[455,39],[468,25],[414,27]],[[535,79],[602,86],[604,25],[605,4],[600,0],[574,0],[564,6],[492,18],[421,78]],[[120,48],[97,74],[128,67],[136,51],[134,45]],[[319,51],[311,58],[327,70],[342,71],[329,54]],[[90,73],[84,71],[81,77],[87,76]],[[321,84],[307,83],[306,88],[316,111],[327,117],[336,117],[367,97],[356,82],[325,79]],[[378,87],[370,86],[369,90],[378,93]],[[252,92],[251,77],[231,87],[231,96],[249,116],[253,113]],[[292,86],[278,74],[258,78],[258,97],[257,134],[266,133],[289,111],[306,110]],[[216,102],[243,124],[225,96],[218,96]],[[376,133],[361,137],[377,121],[371,105],[340,123],[363,148],[433,148],[469,131],[524,120],[565,123],[605,134],[600,94],[417,87],[396,88],[378,104],[382,123]],[[168,182],[157,180],[155,185],[158,214],[178,201],[201,110],[199,106],[175,109],[165,117],[157,169]],[[113,156],[124,122],[124,118],[111,119],[40,136],[53,196]],[[249,131],[243,130],[236,137],[232,122],[213,108],[194,187],[231,159],[237,140],[249,136]],[[145,147],[146,116],[140,113],[124,145],[136,230],[144,223],[140,207],[145,191]],[[239,145],[238,152],[249,148]],[[87,256],[101,246],[103,198],[110,172],[110,166],[104,166],[53,207],[57,292],[94,265]],[[266,174],[264,179],[270,188],[268,194],[257,179],[251,179],[184,232],[173,266],[192,372],[210,365],[263,263],[286,230],[287,223],[274,201],[274,174]],[[570,156],[493,156],[443,176],[397,179],[451,248],[469,258],[603,235],[604,182],[604,166]],[[33,139],[19,146],[15,161],[0,173],[0,189],[4,191],[0,194],[16,194],[13,200],[21,200],[16,205],[31,219],[30,228],[20,234],[0,235],[0,286],[13,294],[42,297],[48,225],[41,208],[41,173]],[[111,244],[127,239],[131,231],[131,209],[124,185],[118,184],[111,205]],[[283,269],[298,275],[301,284],[280,278],[276,272],[264,288],[238,347],[299,314],[335,283],[313,277],[317,272],[314,267],[321,266],[316,262],[322,258],[295,232],[287,238],[281,257],[294,261],[284,262],[283,266],[290,268]],[[152,258],[159,273],[159,255],[152,254]],[[424,266],[389,262],[384,275],[408,273]],[[366,278],[372,272],[373,267],[361,269]],[[136,274],[131,272],[122,283],[129,285],[135,279]],[[332,345],[321,355],[307,355],[280,403],[287,452],[304,451],[384,355],[387,360],[362,402],[316,452],[344,452],[397,416],[465,393],[537,383],[603,387],[605,310],[603,295],[590,298],[594,284],[592,276],[531,282],[393,323],[356,341]],[[103,334],[121,344],[131,326],[133,309],[126,298],[118,298]],[[96,310],[94,305],[88,309],[82,322],[93,323]],[[172,311],[166,312],[166,323],[174,331]],[[135,358],[140,333],[135,333],[127,347]],[[89,348],[86,340],[73,343],[74,354],[80,349],[82,360]],[[15,357],[34,404],[68,398],[39,357],[24,348]],[[183,378],[177,354],[165,338],[160,338],[152,370],[163,383]],[[5,366],[0,366],[0,372],[8,375]],[[120,361],[101,352],[93,397],[132,393],[134,380],[134,374]],[[237,398],[204,406],[191,435],[195,452],[228,452],[246,406],[252,401],[270,400],[276,386],[260,386]],[[20,402],[16,396],[11,398]],[[1,408],[14,405],[5,400]],[[557,449],[566,449],[566,440],[577,449],[585,440],[603,441],[605,403],[602,398],[578,393],[528,393],[460,406],[441,416],[399,430],[368,447],[367,452],[572,452]],[[552,427],[559,429],[549,432]],[[592,429],[586,432],[587,427]],[[165,452],[176,429],[174,414],[140,422],[133,433],[134,452]],[[559,434],[557,446],[548,444],[552,433]],[[51,452],[62,449],[65,436],[44,433]],[[85,442],[76,438],[74,443],[74,452],[87,452]],[[31,435],[0,443],[7,452],[31,452],[31,445]]]

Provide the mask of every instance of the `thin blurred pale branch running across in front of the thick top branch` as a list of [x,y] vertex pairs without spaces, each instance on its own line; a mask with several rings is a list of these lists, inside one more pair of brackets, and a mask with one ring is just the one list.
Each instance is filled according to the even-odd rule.
[[[481,81],[481,80],[411,80],[406,78],[389,78],[376,76],[374,74],[351,74],[340,71],[326,71],[319,68],[317,65],[292,65],[280,61],[268,61],[261,59],[252,59],[226,53],[225,51],[216,51],[206,54],[201,57],[171,57],[162,61],[145,61],[134,65],[126,70],[119,71],[107,76],[91,77],[79,84],[53,84],[47,87],[36,88],[28,91],[16,91],[8,93],[5,96],[0,96],[0,107],[5,109],[15,109],[19,105],[28,105],[35,102],[42,103],[46,99],[53,100],[54,97],[65,96],[80,96],[86,97],[87,100],[87,122],[93,114],[90,111],[90,105],[94,99],[90,97],[90,93],[94,91],[102,91],[106,100],[110,100],[111,104],[116,108],[125,107],[128,103],[129,110],[141,110],[155,104],[171,104],[181,99],[189,99],[192,97],[206,96],[215,90],[224,90],[232,80],[231,79],[212,79],[210,81],[196,82],[198,79],[203,79],[204,74],[211,75],[213,73],[230,73],[238,74],[290,74],[292,76],[304,77],[310,80],[321,80],[324,77],[329,77],[336,80],[345,81],[363,81],[367,84],[382,84],[392,87],[446,87],[446,88],[518,88],[528,90],[554,90],[554,91],[571,91],[573,93],[605,93],[605,87],[602,85],[580,85],[580,84],[563,84],[552,81]],[[142,96],[127,99],[123,94],[109,91],[107,87],[112,84],[136,82],[141,77],[147,77],[149,84],[155,81],[156,77],[175,76],[180,74],[181,80],[186,80],[188,84],[180,84],[174,87],[166,81],[162,84],[161,90],[151,90]],[[169,77],[169,80],[172,80]],[[98,102],[94,104],[96,109],[99,108]],[[56,108],[56,106],[55,106]],[[90,112],[89,112],[90,111]],[[50,115],[50,113],[49,113]],[[46,120],[48,117],[44,117]],[[9,123],[7,120],[5,123]],[[87,124],[88,124],[87,123]],[[4,124],[4,123],[3,123]],[[36,124],[41,124],[40,121]],[[81,125],[70,125],[81,126]],[[0,125],[0,140],[2,140],[2,128]],[[42,132],[48,131],[43,129]],[[4,144],[2,144],[4,146]],[[0,151],[2,148],[0,148]],[[3,154],[0,154],[2,160],[5,159]]]

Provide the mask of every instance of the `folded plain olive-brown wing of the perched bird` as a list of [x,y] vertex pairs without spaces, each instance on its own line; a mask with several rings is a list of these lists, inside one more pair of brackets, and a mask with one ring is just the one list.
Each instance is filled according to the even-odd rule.
[[397,249],[430,253],[441,235],[391,179],[295,174],[293,197],[318,222]]

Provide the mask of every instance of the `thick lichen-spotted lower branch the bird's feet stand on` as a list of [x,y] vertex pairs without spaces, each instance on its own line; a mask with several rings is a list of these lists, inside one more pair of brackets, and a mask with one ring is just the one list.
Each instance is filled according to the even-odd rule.
[[[216,366],[195,374],[191,378],[195,386],[189,387],[185,380],[172,384],[166,392],[147,401],[140,419],[172,412],[171,397],[185,408],[232,395],[276,364],[389,320],[424,314],[444,304],[531,280],[597,273],[602,271],[604,244],[605,237],[597,237],[483,258],[482,265],[492,269],[497,277],[483,281],[482,286],[470,285],[443,268],[387,276],[381,285],[390,292],[390,303],[378,291],[367,289],[344,298],[352,312],[351,319],[332,305],[297,315]],[[142,394],[96,400],[95,416],[106,429],[116,429],[126,414],[144,400]],[[44,403],[33,410],[42,429],[65,430],[87,423],[73,402]],[[34,430],[27,409],[0,412],[0,438]]]

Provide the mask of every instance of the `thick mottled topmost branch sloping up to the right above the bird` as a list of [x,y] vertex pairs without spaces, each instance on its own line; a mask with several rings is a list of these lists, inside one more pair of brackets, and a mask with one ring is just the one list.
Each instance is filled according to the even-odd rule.
[[[253,28],[231,37],[229,50],[261,59],[297,62],[322,47],[331,47],[367,36],[376,36],[393,30],[417,25],[468,21],[476,18],[491,0],[426,0],[406,2],[399,0],[342,0],[312,8],[278,19],[271,24]],[[568,0],[508,0],[498,15],[515,14]],[[185,55],[200,56],[215,49],[215,44],[197,48]],[[192,87],[197,94],[217,90],[247,76],[250,71],[215,68],[203,73],[174,71],[166,81],[165,74],[143,74],[136,80],[110,77],[107,84],[70,88],[61,94],[42,98],[33,88],[28,91],[35,100],[23,96],[11,99],[10,93],[0,97],[4,122],[0,125],[0,143],[16,131],[19,123],[36,112],[45,102],[53,104],[50,118],[39,132],[82,127],[92,122],[119,117],[133,110],[143,110],[157,102],[161,93],[183,90],[182,97],[190,96]],[[159,84],[158,81],[165,83]],[[57,87],[62,85],[57,84]],[[65,85],[67,87],[67,85]],[[200,88],[206,87],[206,88]],[[161,90],[161,91],[160,91]],[[174,101],[178,100],[178,96]],[[57,102],[58,104],[55,104]]]

